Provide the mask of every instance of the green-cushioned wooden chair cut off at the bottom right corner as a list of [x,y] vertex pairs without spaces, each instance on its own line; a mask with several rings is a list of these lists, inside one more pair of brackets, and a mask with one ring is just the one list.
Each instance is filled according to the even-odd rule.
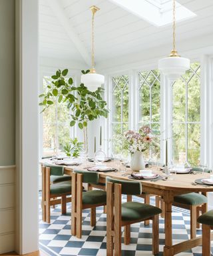
[[202,224],[202,256],[211,255],[211,230],[213,229],[213,210],[198,217]]

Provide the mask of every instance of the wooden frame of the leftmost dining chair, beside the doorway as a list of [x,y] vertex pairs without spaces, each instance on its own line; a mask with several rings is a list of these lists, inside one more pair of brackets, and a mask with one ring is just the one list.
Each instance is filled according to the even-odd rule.
[[66,214],[67,203],[71,202],[72,200],[72,198],[67,197],[67,195],[71,195],[71,192],[51,195],[50,167],[43,166],[41,168],[41,173],[42,173],[42,199],[41,199],[42,220],[47,223],[50,223],[51,222],[51,206],[61,204],[61,213]]

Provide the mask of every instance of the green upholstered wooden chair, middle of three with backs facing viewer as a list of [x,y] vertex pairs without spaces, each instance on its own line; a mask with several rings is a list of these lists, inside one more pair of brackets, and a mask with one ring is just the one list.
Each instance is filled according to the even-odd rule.
[[82,211],[91,209],[91,226],[96,225],[96,207],[107,205],[107,192],[89,190],[83,192],[83,183],[99,183],[99,173],[95,171],[74,170],[72,173],[71,233],[81,238]]

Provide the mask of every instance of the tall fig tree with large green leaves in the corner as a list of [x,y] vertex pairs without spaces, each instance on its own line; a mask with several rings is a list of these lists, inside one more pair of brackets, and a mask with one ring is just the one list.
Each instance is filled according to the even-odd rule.
[[[89,70],[81,72],[86,74]],[[67,107],[71,109],[70,126],[77,124],[80,129],[83,129],[85,151],[88,152],[88,122],[108,116],[107,102],[102,97],[104,89],[99,87],[97,91],[89,91],[83,83],[75,87],[73,78],[67,79],[67,74],[68,69],[56,71],[51,77],[51,85],[47,86],[45,93],[39,95],[42,99],[39,105],[43,107],[43,112],[56,102],[67,104]]]

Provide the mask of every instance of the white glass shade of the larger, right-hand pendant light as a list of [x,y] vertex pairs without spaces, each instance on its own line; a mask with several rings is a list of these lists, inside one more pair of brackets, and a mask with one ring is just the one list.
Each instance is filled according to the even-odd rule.
[[170,80],[176,80],[190,69],[190,60],[183,57],[166,57],[158,61],[158,69]]

